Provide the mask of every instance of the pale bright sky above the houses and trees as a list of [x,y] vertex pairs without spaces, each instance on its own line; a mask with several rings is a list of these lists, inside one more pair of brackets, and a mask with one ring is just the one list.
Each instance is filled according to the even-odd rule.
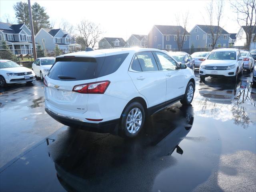
[[[5,16],[17,21],[13,5],[18,0],[0,0],[0,18]],[[27,2],[27,1],[25,1]],[[189,11],[188,31],[196,24],[209,24],[206,13],[208,0],[31,0],[46,8],[50,21],[59,28],[61,20],[67,20],[74,26],[82,19],[100,24],[104,37],[122,37],[127,40],[131,34],[148,34],[153,25],[176,25],[175,15]],[[236,33],[239,25],[236,14],[224,1],[223,17],[220,26],[229,33]]]

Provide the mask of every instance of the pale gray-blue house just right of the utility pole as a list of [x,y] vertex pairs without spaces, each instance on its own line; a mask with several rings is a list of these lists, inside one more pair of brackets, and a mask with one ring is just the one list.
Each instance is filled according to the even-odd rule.
[[58,46],[60,50],[76,50],[81,45],[76,44],[74,37],[62,29],[41,28],[35,36],[36,43],[40,44],[44,50],[54,51]]

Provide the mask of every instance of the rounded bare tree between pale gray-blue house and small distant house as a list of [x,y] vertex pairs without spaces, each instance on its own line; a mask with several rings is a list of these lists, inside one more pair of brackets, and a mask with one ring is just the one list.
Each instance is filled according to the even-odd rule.
[[100,25],[88,20],[82,20],[77,26],[77,31],[78,34],[75,35],[76,42],[81,44],[83,48],[94,48],[96,43],[100,41],[100,37],[103,34]]

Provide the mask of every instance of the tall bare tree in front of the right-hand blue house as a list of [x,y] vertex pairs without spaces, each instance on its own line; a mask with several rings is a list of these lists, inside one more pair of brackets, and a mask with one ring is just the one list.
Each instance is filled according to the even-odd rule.
[[[206,6],[206,11],[208,14],[208,19],[210,21],[210,33],[212,36],[212,47],[215,47],[218,38],[220,38],[221,34],[221,27],[220,27],[220,20],[222,18],[223,14],[223,1],[211,1],[207,6]],[[214,25],[214,24],[217,25]]]

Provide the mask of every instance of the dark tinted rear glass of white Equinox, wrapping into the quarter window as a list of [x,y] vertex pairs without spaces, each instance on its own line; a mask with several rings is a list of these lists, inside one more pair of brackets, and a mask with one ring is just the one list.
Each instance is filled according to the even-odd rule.
[[124,62],[126,54],[106,57],[60,57],[50,69],[48,77],[54,80],[78,81],[98,78],[115,72]]

